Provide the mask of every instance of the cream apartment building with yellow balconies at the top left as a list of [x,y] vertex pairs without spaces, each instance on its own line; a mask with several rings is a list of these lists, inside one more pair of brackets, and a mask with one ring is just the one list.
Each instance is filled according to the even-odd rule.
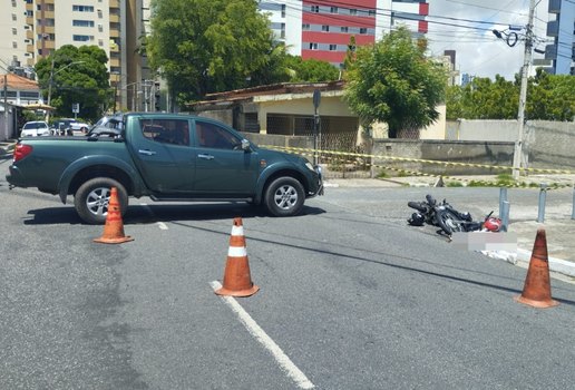
[[[3,0],[0,66],[30,74],[64,45],[95,45],[108,55],[117,108],[144,107],[149,69],[140,37],[149,32],[149,0]],[[6,12],[8,11],[8,12]],[[149,88],[149,87],[147,87]]]

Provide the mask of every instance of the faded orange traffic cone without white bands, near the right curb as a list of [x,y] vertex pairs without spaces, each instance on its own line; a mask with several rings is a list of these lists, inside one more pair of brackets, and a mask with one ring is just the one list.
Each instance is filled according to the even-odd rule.
[[547,257],[547,238],[544,228],[537,230],[533,244],[532,259],[523,294],[515,299],[517,302],[534,308],[552,308],[559,303],[550,296],[549,262]]

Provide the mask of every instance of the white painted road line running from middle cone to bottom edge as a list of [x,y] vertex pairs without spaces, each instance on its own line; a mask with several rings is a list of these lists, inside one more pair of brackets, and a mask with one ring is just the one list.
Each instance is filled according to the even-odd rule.
[[[217,281],[209,283],[212,289],[218,290],[222,284]],[[274,357],[277,364],[293,379],[300,389],[313,389],[315,386],[305,377],[305,374],[290,360],[282,349],[263,331],[262,328],[247,314],[247,312],[237,303],[233,296],[221,296],[225,304],[234,311],[240,321],[244,324],[247,332],[252,334],[266,350]]]

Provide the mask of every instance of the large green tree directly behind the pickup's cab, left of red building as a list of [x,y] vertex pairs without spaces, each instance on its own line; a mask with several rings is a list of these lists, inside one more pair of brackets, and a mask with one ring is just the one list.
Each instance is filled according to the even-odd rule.
[[152,11],[146,51],[178,103],[269,79],[262,69],[282,57],[254,0],[154,0]]

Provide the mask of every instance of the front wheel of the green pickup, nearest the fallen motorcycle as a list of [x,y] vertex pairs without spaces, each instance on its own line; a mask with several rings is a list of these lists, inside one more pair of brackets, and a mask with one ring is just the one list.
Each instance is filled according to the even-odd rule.
[[304,197],[300,182],[293,177],[279,177],[265,189],[264,203],[275,216],[292,216],[301,212]]

